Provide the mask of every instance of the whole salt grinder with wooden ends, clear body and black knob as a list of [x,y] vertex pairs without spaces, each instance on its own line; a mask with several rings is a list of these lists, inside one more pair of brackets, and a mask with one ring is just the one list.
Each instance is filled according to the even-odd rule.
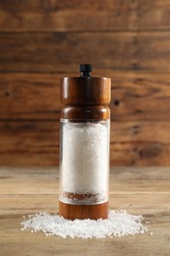
[[108,218],[111,79],[91,71],[61,80],[59,215],[69,220]]

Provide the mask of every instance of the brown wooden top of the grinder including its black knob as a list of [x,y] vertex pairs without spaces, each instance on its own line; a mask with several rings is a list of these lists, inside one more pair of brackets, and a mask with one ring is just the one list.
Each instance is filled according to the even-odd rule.
[[[61,117],[69,119],[108,119],[111,79],[91,77],[90,64],[80,65],[80,77],[61,79],[60,96],[67,106],[62,109]],[[69,107],[68,107],[69,106]]]

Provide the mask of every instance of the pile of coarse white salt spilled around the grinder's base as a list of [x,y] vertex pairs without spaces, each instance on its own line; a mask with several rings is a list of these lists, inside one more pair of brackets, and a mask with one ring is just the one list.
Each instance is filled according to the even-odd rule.
[[127,214],[126,211],[110,211],[107,220],[75,220],[69,221],[58,215],[40,213],[28,216],[22,223],[22,230],[30,228],[33,231],[42,231],[45,235],[59,235],[81,238],[104,238],[106,236],[124,236],[142,234],[147,226],[142,225],[142,216]]

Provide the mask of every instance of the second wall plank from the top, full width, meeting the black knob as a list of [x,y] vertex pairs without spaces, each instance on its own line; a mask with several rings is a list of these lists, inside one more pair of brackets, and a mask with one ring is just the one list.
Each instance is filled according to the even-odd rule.
[[75,72],[80,63],[103,72],[170,71],[170,32],[1,32],[0,38],[1,72]]

